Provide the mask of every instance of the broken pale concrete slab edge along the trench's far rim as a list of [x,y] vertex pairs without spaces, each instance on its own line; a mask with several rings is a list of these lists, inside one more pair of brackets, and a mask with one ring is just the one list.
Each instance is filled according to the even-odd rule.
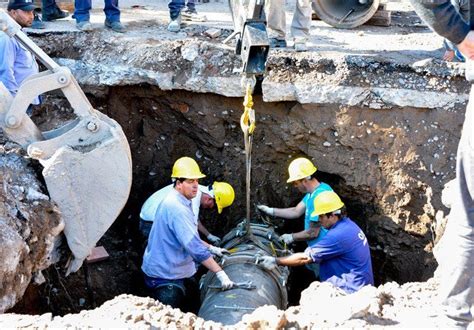
[[[383,63],[373,62],[370,59],[367,62],[365,58],[354,59],[349,56],[347,63],[351,63],[352,68],[364,69],[368,65],[377,69]],[[313,59],[314,60],[314,59]],[[243,97],[245,90],[241,85],[241,76],[238,73],[232,76],[207,76],[193,75],[189,73],[189,78],[183,80],[177,79],[176,72],[157,72],[153,70],[130,67],[125,65],[110,66],[102,63],[85,63],[80,60],[58,59],[60,65],[69,67],[82,85],[95,86],[125,86],[147,83],[157,86],[162,90],[186,90],[197,93],[214,93],[226,97]],[[316,60],[317,61],[317,60]],[[327,62],[327,59],[323,59]],[[456,104],[465,104],[468,100],[467,82],[457,81],[456,85],[461,89],[457,91],[448,89],[450,79],[459,77],[463,79],[463,67],[441,65],[437,63],[435,66],[429,66],[432,61],[414,64],[405,67],[405,75],[411,76],[413,85],[418,88],[405,88],[402,78],[398,79],[399,83],[382,84],[383,87],[357,86],[357,81],[353,81],[353,85],[346,85],[347,81],[327,82],[328,72],[323,74],[317,73],[314,76],[314,70],[309,70],[303,75],[295,74],[290,81],[282,82],[281,79],[275,78],[275,72],[269,73],[262,83],[262,94],[265,102],[282,102],[297,101],[301,104],[339,104],[347,106],[367,106],[372,109],[387,109],[391,107],[415,107],[415,108],[452,108]],[[314,63],[313,63],[314,64]],[[355,67],[354,67],[355,64]],[[327,65],[327,64],[326,64]],[[393,65],[393,64],[388,64]],[[282,70],[281,67],[273,68],[274,71]],[[291,70],[291,69],[289,69]],[[384,73],[387,76],[390,73]],[[351,73],[347,73],[347,78],[351,77]],[[310,80],[308,81],[308,78]],[[430,79],[440,79],[445,81],[443,89],[435,90],[429,86]],[[361,78],[355,78],[361,79]],[[389,80],[389,77],[387,77]],[[420,82],[421,80],[421,82]],[[423,85],[423,86],[421,86]],[[390,86],[390,87],[388,87]],[[446,87],[446,88],[445,88]],[[431,90],[428,90],[431,89]]]

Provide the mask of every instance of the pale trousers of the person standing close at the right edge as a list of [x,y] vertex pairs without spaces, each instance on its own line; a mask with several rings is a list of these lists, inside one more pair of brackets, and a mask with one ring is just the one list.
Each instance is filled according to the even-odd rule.
[[474,88],[466,109],[456,159],[451,211],[441,238],[437,275],[446,315],[474,321]]

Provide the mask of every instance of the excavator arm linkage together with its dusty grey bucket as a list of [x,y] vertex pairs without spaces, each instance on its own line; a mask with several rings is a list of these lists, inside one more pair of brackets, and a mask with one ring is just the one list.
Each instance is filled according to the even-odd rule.
[[[120,125],[95,110],[71,71],[55,63],[0,10],[0,30],[17,39],[47,70],[27,78],[15,97],[0,82],[0,127],[43,166],[49,195],[61,211],[77,271],[115,221],[130,194],[132,160]],[[75,115],[52,131],[40,131],[26,114],[35,97],[61,90]]]

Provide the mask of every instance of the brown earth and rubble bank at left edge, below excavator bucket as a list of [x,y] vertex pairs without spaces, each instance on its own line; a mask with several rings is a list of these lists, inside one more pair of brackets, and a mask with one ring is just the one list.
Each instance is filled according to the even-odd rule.
[[33,278],[55,262],[64,224],[43,183],[18,146],[0,145],[0,312],[13,307]]

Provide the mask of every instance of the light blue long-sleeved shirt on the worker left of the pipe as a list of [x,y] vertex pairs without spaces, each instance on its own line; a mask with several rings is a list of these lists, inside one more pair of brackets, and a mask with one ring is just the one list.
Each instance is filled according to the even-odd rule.
[[191,201],[172,189],[158,207],[143,255],[143,272],[153,278],[183,279],[196,273],[211,253],[199,238]]

